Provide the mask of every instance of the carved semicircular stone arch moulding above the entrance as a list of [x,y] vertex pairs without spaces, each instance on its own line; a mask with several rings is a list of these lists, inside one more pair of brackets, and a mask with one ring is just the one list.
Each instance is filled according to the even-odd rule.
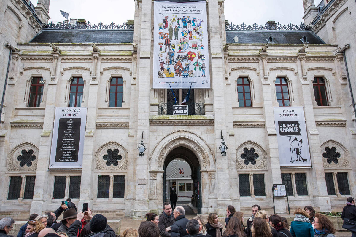
[[199,160],[201,169],[215,169],[215,155],[207,142],[191,131],[177,130],[157,142],[149,158],[150,170],[163,170],[164,159],[178,146],[185,146],[192,150]]

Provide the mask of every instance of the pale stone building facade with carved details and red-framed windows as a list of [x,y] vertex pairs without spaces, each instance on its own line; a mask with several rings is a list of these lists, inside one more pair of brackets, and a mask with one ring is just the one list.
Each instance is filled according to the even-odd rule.
[[[48,25],[32,40],[17,39],[21,52],[11,62],[13,79],[7,83],[0,132],[0,214],[25,219],[29,213],[55,210],[70,197],[109,218],[141,218],[161,210],[164,169],[177,157],[192,167],[202,214],[224,216],[231,204],[248,211],[256,202],[272,210],[272,184],[282,182],[292,209],[308,204],[339,210],[347,196],[355,196],[355,121],[343,55],[335,53],[342,45],[329,44],[304,26],[234,27],[224,21],[224,1],[206,4],[211,88],[194,89],[194,103],[203,103],[204,110],[192,115],[159,109],[169,102],[170,92],[152,88],[151,0],[135,0],[134,29]],[[93,42],[100,52],[93,50]],[[324,106],[314,96],[316,78],[324,82]],[[121,106],[109,107],[110,86],[117,79]],[[239,101],[237,84],[244,79],[251,106]],[[282,79],[290,106],[304,107],[311,168],[279,165],[273,107],[279,106],[276,84]],[[78,81],[81,107],[88,108],[83,168],[49,169],[54,109],[68,107]],[[42,98],[29,107],[35,84],[43,89]],[[179,91],[179,102],[184,96]],[[226,156],[219,150],[221,136]],[[143,156],[137,151],[141,138]],[[246,165],[241,155],[247,151],[259,158]],[[112,152],[120,157],[116,166],[105,158]],[[274,203],[277,213],[286,213],[285,198]]]

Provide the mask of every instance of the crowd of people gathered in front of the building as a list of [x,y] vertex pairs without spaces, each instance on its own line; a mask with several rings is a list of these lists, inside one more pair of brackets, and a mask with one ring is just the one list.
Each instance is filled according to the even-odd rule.
[[[114,230],[101,214],[93,216],[92,211],[77,211],[69,200],[54,212],[44,215],[32,214],[30,220],[21,226],[17,237],[116,237]],[[335,237],[333,223],[323,214],[315,213],[312,206],[294,211],[294,221],[290,226],[286,218],[279,215],[269,216],[259,205],[251,208],[251,217],[244,226],[244,213],[229,205],[226,209],[225,230],[216,213],[208,215],[207,223],[200,216],[192,220],[185,217],[183,206],[172,210],[169,202],[163,203],[161,215],[147,213],[138,230],[127,228],[121,237]],[[63,219],[57,218],[63,212]],[[356,237],[356,206],[354,198],[347,199],[341,215],[344,228]],[[0,220],[0,237],[12,237],[8,233],[15,221],[11,217]]]

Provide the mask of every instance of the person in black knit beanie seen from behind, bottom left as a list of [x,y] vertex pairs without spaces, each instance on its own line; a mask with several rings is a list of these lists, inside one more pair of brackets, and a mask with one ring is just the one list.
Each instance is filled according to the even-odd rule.
[[106,223],[106,217],[101,214],[91,218],[90,231],[91,233],[85,237],[116,237],[114,230]]

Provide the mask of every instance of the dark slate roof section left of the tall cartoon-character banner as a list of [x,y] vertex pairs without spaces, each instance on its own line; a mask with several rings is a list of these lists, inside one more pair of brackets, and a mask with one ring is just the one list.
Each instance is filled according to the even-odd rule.
[[133,30],[42,29],[32,43],[133,43]]

